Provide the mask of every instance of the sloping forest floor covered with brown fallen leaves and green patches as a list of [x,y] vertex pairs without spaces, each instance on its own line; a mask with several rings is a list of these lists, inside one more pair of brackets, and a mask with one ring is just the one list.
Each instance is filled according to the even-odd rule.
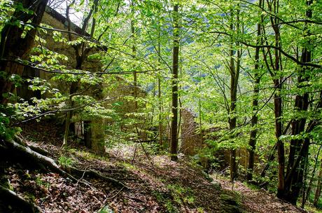
[[240,182],[235,182],[232,191],[230,181],[211,181],[187,157],[173,162],[169,156],[154,156],[148,146],[144,151],[140,144],[137,149],[134,144],[118,144],[104,156],[75,142],[61,150],[59,127],[33,123],[22,129],[25,140],[47,150],[62,167],[94,170],[126,186],[86,175],[75,183],[59,174],[7,165],[10,189],[44,212],[304,212]]

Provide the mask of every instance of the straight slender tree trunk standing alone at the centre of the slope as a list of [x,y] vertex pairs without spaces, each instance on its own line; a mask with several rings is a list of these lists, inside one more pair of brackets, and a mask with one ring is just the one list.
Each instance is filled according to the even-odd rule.
[[179,5],[174,5],[174,49],[172,67],[172,119],[171,160],[177,160],[178,152],[178,70],[179,70]]

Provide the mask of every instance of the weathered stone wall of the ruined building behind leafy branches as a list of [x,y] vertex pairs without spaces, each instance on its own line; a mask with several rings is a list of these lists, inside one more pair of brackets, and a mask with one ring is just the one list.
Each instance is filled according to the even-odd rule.
[[[59,29],[62,31],[67,31],[67,22],[66,18],[62,16],[61,14],[57,13],[57,11],[54,11],[50,8],[46,8],[46,11],[43,15],[42,23],[45,25],[49,25],[50,27],[53,27],[54,29]],[[74,25],[71,23],[71,30],[73,32],[76,32],[80,34],[81,29],[80,27]],[[68,34],[66,32],[61,32],[62,36],[66,39],[68,39]],[[35,45],[41,45],[45,48],[48,48],[48,50],[51,50],[55,53],[63,54],[68,57],[67,61],[62,61],[62,65],[70,68],[75,69],[76,67],[76,51],[74,48],[70,45],[67,45],[63,42],[57,42],[52,39],[53,31],[50,29],[46,29],[45,33],[39,34],[41,36],[41,39],[43,41],[39,41],[35,43]],[[87,34],[87,36],[89,36]],[[76,35],[71,34],[71,39],[75,40],[77,39]],[[94,53],[99,53],[99,49],[92,48],[87,55],[92,55]],[[88,57],[85,57],[85,60],[83,62],[82,69],[85,71],[102,71],[102,63],[99,62],[99,60],[90,60]],[[69,93],[69,89],[71,84],[66,83],[66,81],[52,81],[51,78],[54,74],[50,74],[45,71],[38,71],[36,69],[30,69],[25,68],[24,76],[25,78],[32,78],[32,77],[40,77],[52,84],[54,88],[58,88],[60,91],[64,93]],[[123,111],[123,114],[134,112],[134,102],[133,101],[127,101],[124,97],[125,95],[133,95],[134,94],[134,87],[131,83],[128,83],[121,77],[111,77],[113,78],[113,82],[111,84],[115,85],[114,88],[110,88],[111,85],[109,83],[102,83],[99,85],[92,86],[91,90],[86,91],[83,93],[83,95],[91,95],[92,97],[95,97],[97,99],[104,99],[106,97],[116,97],[120,96],[118,99],[113,99],[111,101],[104,102],[104,106],[109,108],[111,107],[110,104],[113,102],[123,102],[123,105],[120,106],[119,111]],[[95,89],[95,90],[94,90]],[[93,92],[94,90],[94,92]],[[22,88],[18,90],[18,95],[20,97],[25,97],[25,99],[30,99],[30,97],[40,97],[40,94],[35,94],[35,92],[32,92],[31,90],[28,90],[28,84],[24,85]],[[144,97],[145,92],[138,89],[138,95],[139,97]],[[42,95],[42,97],[46,97],[46,94]],[[64,117],[62,117],[64,118]],[[90,139],[90,146],[94,151],[102,152],[104,151],[104,143],[106,136],[104,135],[104,129],[106,124],[108,124],[109,119],[100,119],[100,118],[93,118],[90,121],[81,121],[80,118],[78,118],[77,115],[74,115],[72,118],[73,122],[76,123],[75,125],[75,133],[78,137],[85,137],[87,139]],[[86,130],[85,130],[86,129]]]

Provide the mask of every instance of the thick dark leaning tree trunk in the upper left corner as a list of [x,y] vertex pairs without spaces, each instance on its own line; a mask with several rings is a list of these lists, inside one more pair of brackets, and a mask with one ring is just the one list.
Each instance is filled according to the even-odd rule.
[[[29,11],[34,13],[30,14],[24,10],[16,10],[9,23],[3,26],[1,31],[1,42],[0,42],[0,70],[6,71],[8,77],[12,74],[22,75],[24,67],[15,62],[8,62],[6,60],[15,60],[17,58],[25,59],[27,53],[31,50],[34,45],[34,37],[36,36],[36,29],[31,29],[27,32],[26,36],[22,36],[24,32],[23,27],[11,25],[12,22],[28,22],[31,21],[33,25],[39,25],[43,18],[45,6],[48,0],[20,0],[24,8],[28,8]],[[13,84],[11,81],[7,81],[5,78],[0,78],[0,103],[6,103],[8,99],[3,97],[7,92],[13,92]]]

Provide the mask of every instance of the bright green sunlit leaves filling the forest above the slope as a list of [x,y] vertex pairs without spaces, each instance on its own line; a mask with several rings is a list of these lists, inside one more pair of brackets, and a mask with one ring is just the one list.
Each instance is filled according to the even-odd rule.
[[[307,139],[307,158],[321,158],[316,150],[321,146],[322,131],[322,4],[270,0],[259,6],[260,2],[103,0],[95,6],[94,1],[75,1],[69,6],[71,11],[82,12],[79,34],[48,25],[33,26],[31,20],[19,22],[10,17],[13,11],[33,11],[13,1],[1,1],[0,30],[10,25],[24,29],[22,36],[34,27],[38,32],[28,57],[13,58],[33,74],[0,72],[15,88],[15,92],[1,94],[8,103],[0,106],[0,136],[13,137],[20,131],[15,128],[17,123],[55,114],[65,125],[102,121],[104,148],[137,140],[157,144],[162,139],[164,144],[155,145],[155,150],[166,147],[173,117],[172,41],[178,30],[179,108],[193,111],[197,123],[193,133],[202,137],[195,158],[207,158],[218,170],[223,164],[218,153],[250,151],[248,142],[255,130],[258,162],[253,180],[269,182],[267,189],[276,191],[281,158],[267,160],[276,142],[283,144],[286,154],[280,157],[286,159],[286,165],[293,165],[293,144],[303,146]],[[180,6],[179,29],[173,27],[173,4]],[[262,27],[260,34],[258,26]],[[50,41],[55,41],[54,47]],[[258,60],[256,48],[260,50]],[[229,83],[234,75],[235,95],[233,83]],[[24,88],[29,94],[34,92],[33,97],[20,97],[26,96],[19,92]],[[253,105],[255,99],[258,106]],[[254,116],[256,123],[252,123]],[[295,124],[303,124],[302,130]],[[90,125],[83,128],[84,132],[90,130]],[[82,137],[85,141],[85,133]],[[300,149],[294,156],[304,162]],[[243,159],[237,157],[240,164]],[[59,163],[71,165],[73,160],[61,156]],[[241,174],[248,172],[246,164],[239,167]],[[265,165],[269,169],[260,177]],[[304,165],[308,172],[313,171],[313,162]],[[300,166],[297,172],[304,171]],[[309,175],[305,177],[307,183]],[[168,189],[177,204],[193,202],[193,197],[185,198],[188,189],[171,185]],[[176,211],[166,200],[165,205],[169,212]]]

